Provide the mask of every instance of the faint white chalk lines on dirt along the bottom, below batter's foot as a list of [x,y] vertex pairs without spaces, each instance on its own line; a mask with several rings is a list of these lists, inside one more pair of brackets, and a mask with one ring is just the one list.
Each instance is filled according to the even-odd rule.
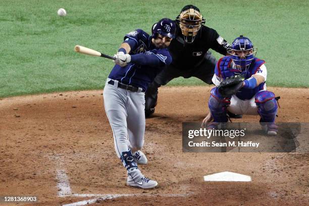
[[83,201],[78,201],[78,202],[73,202],[69,204],[63,204],[62,206],[83,206],[83,205],[89,205],[94,202],[99,202],[105,199],[114,199],[118,197],[124,197],[124,196],[163,196],[163,197],[184,197],[188,196],[191,193],[186,193],[186,194],[72,194],[72,195],[66,195],[66,196],[83,196],[83,197],[89,197],[93,195],[99,195],[98,198],[93,198],[93,199],[88,199],[88,200],[83,200]]

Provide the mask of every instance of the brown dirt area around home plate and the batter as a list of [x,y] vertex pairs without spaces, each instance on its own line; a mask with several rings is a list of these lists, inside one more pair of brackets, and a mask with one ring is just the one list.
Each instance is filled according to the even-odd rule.
[[[182,152],[182,122],[204,118],[210,89],[160,89],[156,114],[146,120],[143,151],[149,162],[140,167],[159,182],[151,190],[125,185],[102,91],[1,99],[0,196],[38,198],[18,205],[89,199],[90,205],[308,205],[308,153]],[[308,122],[309,89],[269,89],[281,96],[278,122]],[[223,171],[250,175],[252,182],[203,182],[204,175]]]

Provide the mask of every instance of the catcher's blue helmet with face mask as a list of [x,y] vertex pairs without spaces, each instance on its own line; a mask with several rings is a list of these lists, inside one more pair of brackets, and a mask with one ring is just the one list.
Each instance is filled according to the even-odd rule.
[[[240,57],[236,54],[236,52],[246,52],[246,51],[250,51],[250,53],[248,53],[245,56]],[[243,70],[244,68],[245,69],[248,68],[248,66],[253,61],[253,58],[257,51],[258,49],[253,46],[250,39],[242,35],[235,38],[235,40],[233,41],[231,45],[231,48],[228,49],[228,53],[232,55],[232,59],[234,63],[237,66],[240,66],[240,68],[242,68],[241,70]]]

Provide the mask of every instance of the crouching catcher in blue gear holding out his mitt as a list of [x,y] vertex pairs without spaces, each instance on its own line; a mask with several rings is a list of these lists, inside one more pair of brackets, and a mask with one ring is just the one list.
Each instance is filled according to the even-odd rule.
[[211,89],[208,106],[211,112],[203,120],[208,128],[217,128],[227,122],[227,112],[245,115],[260,115],[260,123],[268,135],[276,135],[275,118],[278,102],[275,94],[266,90],[267,70],[265,61],[255,58],[257,52],[249,38],[236,38],[229,56],[221,58],[212,79],[217,87]]

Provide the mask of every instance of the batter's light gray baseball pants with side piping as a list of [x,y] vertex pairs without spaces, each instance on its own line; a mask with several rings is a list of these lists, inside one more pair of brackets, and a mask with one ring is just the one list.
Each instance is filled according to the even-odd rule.
[[[144,144],[145,133],[145,93],[133,92],[118,88],[118,81],[114,85],[107,82],[103,91],[104,107],[110,121],[115,150],[118,158],[122,152],[136,151]],[[133,153],[133,152],[132,152]]]

